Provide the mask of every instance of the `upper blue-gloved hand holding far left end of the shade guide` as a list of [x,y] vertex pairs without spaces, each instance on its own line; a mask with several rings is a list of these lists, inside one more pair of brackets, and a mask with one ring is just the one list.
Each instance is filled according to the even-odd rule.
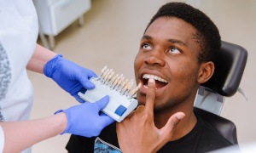
[[44,75],[52,78],[80,103],[84,103],[84,100],[79,98],[79,90],[83,87],[85,89],[95,88],[95,85],[89,79],[90,77],[96,77],[96,74],[64,59],[61,54],[57,54],[44,65]]

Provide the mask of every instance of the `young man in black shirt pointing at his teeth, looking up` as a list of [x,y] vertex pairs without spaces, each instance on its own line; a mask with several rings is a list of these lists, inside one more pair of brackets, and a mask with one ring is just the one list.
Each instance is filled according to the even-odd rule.
[[197,89],[212,77],[220,49],[212,20],[188,4],[166,3],[140,44],[134,62],[137,83],[143,84],[140,106],[98,137],[73,135],[67,150],[197,153],[231,145],[193,111]]

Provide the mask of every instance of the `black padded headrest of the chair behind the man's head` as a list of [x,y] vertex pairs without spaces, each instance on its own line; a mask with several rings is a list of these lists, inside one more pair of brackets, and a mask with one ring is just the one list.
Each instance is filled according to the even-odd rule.
[[247,63],[247,50],[230,42],[221,42],[212,78],[202,86],[223,96],[236,94]]

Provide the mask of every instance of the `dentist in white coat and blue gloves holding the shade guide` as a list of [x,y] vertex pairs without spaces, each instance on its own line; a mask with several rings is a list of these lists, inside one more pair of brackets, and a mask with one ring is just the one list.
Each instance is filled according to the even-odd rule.
[[[93,104],[77,96],[80,88],[95,87],[89,79],[96,74],[37,44],[38,16],[32,1],[0,0],[0,23],[0,152],[31,152],[26,148],[60,133],[96,136],[113,122],[99,115],[108,96]],[[82,104],[29,120],[33,90],[26,70],[53,79]]]

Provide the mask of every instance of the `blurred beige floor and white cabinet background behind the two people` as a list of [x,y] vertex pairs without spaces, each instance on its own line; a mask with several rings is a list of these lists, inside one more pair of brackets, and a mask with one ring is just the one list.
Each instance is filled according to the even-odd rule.
[[[49,48],[79,65],[100,73],[105,65],[134,78],[133,60],[151,17],[167,0],[33,0]],[[256,141],[256,1],[183,0],[200,8],[218,26],[222,40],[247,49],[239,93],[225,99],[221,116],[235,122],[240,144]],[[81,5],[83,3],[84,5]],[[76,6],[77,5],[77,6]],[[79,14],[73,20],[73,15]],[[54,17],[54,18],[53,18]],[[32,119],[50,116],[78,102],[43,75],[28,71],[34,87]],[[44,140],[32,152],[67,152],[68,134]]]

